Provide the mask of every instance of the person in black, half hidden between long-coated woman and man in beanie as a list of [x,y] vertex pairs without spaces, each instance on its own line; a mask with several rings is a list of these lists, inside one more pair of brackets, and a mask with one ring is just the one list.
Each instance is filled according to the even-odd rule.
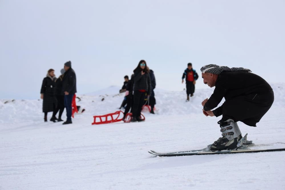
[[[50,121],[56,122],[55,120],[57,120],[58,122],[63,121],[61,119],[63,110],[64,110],[64,95],[62,95],[62,80],[64,77],[64,69],[60,70],[61,75],[55,80],[56,83],[56,91],[55,91],[55,97],[57,100],[57,108],[54,110],[53,114],[52,114],[52,118],[50,119]],[[59,111],[58,114],[58,119],[55,117],[55,115],[57,114],[57,112]]]

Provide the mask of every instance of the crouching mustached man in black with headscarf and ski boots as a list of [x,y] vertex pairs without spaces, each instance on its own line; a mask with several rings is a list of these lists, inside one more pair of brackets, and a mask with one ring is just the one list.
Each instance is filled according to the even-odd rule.
[[[201,72],[204,84],[215,86],[211,97],[202,102],[203,114],[223,116],[218,122],[222,137],[211,145],[211,150],[235,149],[242,138],[237,122],[256,127],[274,101],[273,90],[263,78],[242,67],[209,64]],[[223,98],[223,105],[216,108]]]

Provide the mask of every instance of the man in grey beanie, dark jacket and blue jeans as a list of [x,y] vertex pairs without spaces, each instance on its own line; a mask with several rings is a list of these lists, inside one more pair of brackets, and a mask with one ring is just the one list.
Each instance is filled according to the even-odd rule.
[[63,124],[71,124],[72,98],[76,91],[76,75],[71,68],[71,61],[64,63],[64,77],[62,80],[62,92],[64,94],[64,106],[66,108],[67,120]]

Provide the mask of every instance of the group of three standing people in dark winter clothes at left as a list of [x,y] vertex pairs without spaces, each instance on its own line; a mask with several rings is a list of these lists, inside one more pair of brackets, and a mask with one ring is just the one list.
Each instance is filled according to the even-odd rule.
[[[64,64],[60,70],[61,75],[56,78],[54,69],[49,69],[47,76],[43,79],[41,87],[41,99],[43,99],[44,121],[47,122],[47,113],[53,112],[50,121],[58,122],[61,119],[64,108],[66,108],[67,119],[63,124],[71,124],[72,99],[76,91],[76,74],[71,68],[71,62]],[[59,111],[58,118],[56,114]]]

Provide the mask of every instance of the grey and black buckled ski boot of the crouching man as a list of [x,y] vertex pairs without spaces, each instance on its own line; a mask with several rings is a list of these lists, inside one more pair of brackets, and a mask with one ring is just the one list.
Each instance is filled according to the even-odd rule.
[[220,137],[215,141],[211,145],[210,149],[212,151],[236,149],[238,141],[242,138],[237,122],[234,122],[232,119],[228,119],[225,122],[220,120],[218,124],[220,124],[223,137]]

